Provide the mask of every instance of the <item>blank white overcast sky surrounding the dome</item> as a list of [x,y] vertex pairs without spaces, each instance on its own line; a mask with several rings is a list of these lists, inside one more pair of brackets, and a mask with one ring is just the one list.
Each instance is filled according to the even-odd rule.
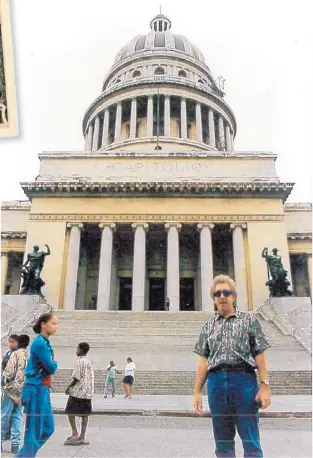
[[[84,149],[82,118],[121,47],[147,34],[154,0],[11,0],[20,135],[0,139],[1,200],[25,199],[41,151]],[[172,32],[198,46],[238,132],[235,149],[278,154],[289,202],[312,200],[312,23],[309,0],[167,0]],[[309,11],[310,10],[310,11]]]

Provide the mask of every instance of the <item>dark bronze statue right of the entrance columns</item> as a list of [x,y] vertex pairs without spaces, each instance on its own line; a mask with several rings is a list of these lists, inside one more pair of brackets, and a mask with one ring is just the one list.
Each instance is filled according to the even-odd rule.
[[278,254],[278,249],[273,248],[272,254],[269,254],[268,248],[264,247],[262,250],[262,258],[265,258],[267,263],[268,280],[265,285],[269,287],[270,296],[292,296],[292,291],[288,289],[288,286],[290,286],[290,281],[287,279],[288,272],[284,269],[281,256]]

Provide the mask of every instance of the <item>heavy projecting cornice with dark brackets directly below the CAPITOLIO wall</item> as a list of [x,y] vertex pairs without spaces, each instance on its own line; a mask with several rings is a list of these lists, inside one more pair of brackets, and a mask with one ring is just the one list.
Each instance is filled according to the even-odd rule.
[[94,182],[42,181],[21,183],[28,197],[74,196],[95,197],[114,195],[130,197],[263,197],[284,201],[294,183],[273,182]]

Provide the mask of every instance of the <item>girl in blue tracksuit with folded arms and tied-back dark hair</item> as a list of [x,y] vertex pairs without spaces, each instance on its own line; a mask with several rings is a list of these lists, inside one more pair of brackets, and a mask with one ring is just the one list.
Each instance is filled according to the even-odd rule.
[[26,424],[24,445],[16,458],[35,457],[38,450],[54,433],[54,418],[50,400],[51,375],[58,364],[50,337],[57,332],[58,319],[49,312],[40,315],[33,326],[39,334],[30,346],[30,355],[25,369],[25,382],[22,388],[22,405],[25,409]]

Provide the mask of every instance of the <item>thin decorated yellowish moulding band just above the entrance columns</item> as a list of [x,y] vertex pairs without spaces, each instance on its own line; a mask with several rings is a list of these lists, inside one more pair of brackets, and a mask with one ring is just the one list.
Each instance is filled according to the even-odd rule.
[[285,221],[284,215],[173,215],[171,214],[64,214],[64,213],[32,213],[30,215],[30,221],[64,221],[67,224],[69,222],[77,221],[79,223],[94,222],[94,223],[128,223],[133,224],[134,222],[141,223],[194,223],[194,224],[205,224],[205,223],[249,223],[257,221],[267,222],[283,222]]

